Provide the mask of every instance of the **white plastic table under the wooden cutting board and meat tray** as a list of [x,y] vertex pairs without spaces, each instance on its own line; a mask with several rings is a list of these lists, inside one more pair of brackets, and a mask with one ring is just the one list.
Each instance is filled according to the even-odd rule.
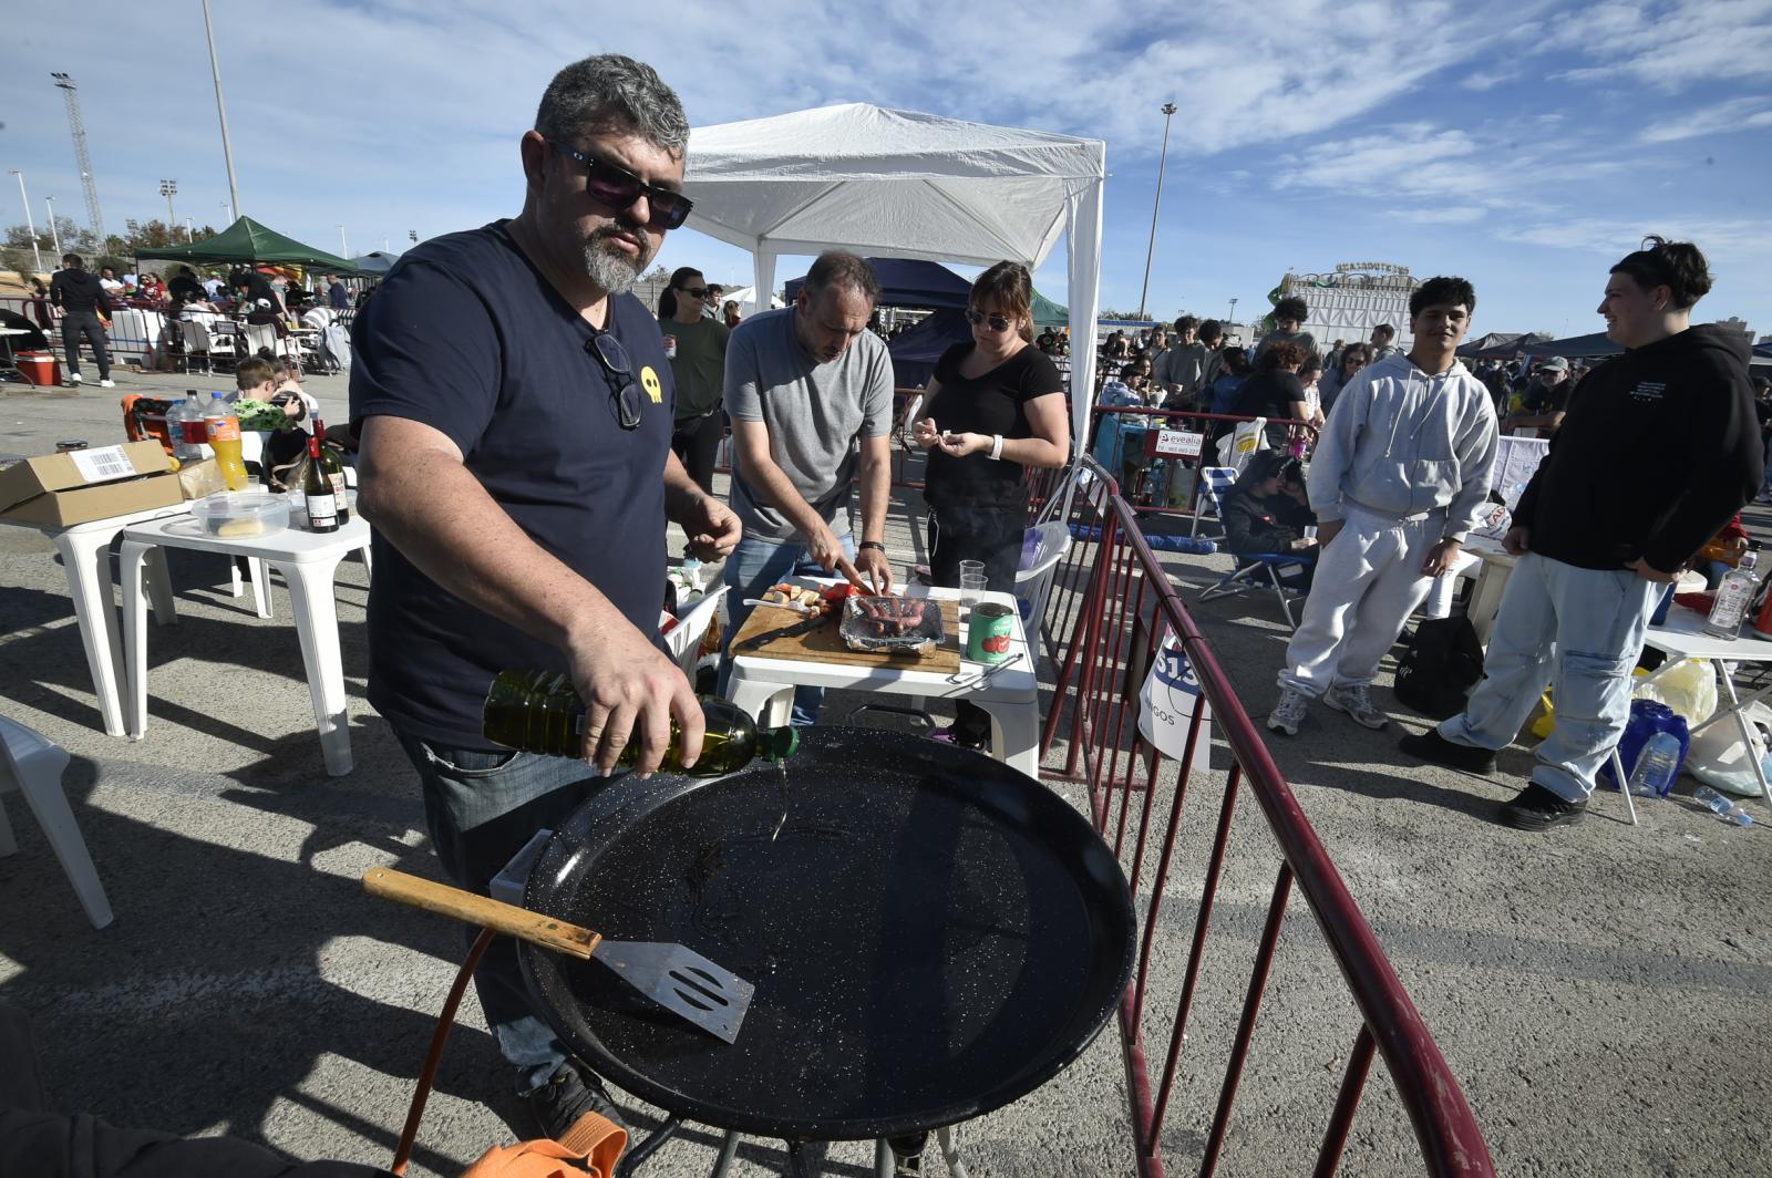
[[[955,588],[909,585],[905,597],[959,601]],[[991,714],[991,755],[1030,778],[1040,776],[1040,680],[1028,652],[1021,609],[1010,593],[983,593],[980,601],[1008,606],[1014,618],[1010,654],[1005,663],[973,663],[966,657],[960,622],[959,673],[923,671],[904,663],[806,663],[758,654],[732,655],[727,696],[767,728],[789,721],[796,687],[843,687],[886,694],[966,700]],[[783,618],[787,615],[783,613]]]

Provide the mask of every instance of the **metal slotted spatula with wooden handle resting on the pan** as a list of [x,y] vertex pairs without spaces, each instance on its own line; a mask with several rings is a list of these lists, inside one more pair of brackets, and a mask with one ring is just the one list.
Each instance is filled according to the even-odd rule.
[[744,978],[716,965],[695,949],[661,941],[604,941],[601,934],[519,909],[491,896],[429,879],[374,868],[363,873],[372,896],[482,925],[556,953],[599,960],[654,1003],[682,1015],[703,1031],[732,1043],[757,992]]

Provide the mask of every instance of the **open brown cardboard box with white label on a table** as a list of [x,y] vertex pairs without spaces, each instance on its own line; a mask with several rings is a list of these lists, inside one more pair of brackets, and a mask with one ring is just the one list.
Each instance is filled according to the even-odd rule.
[[158,441],[46,453],[0,469],[0,519],[83,524],[184,501]]

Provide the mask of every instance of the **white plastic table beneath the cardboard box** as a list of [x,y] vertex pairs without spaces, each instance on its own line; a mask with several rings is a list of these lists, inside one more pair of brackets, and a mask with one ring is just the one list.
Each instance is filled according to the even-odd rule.
[[[190,505],[152,507],[142,512],[126,512],[108,519],[92,519],[83,524],[67,526],[0,519],[0,523],[43,531],[55,542],[55,551],[62,554],[62,572],[67,574],[67,595],[74,602],[74,618],[80,622],[80,643],[87,648],[87,670],[92,671],[92,691],[99,701],[105,735],[110,737],[124,735],[122,703],[117,696],[122,643],[117,638],[117,606],[112,601],[115,585],[110,576],[110,546],[131,524],[168,515],[190,519]],[[152,562],[149,593],[154,599],[154,622],[167,625],[174,620],[167,558],[163,553],[156,553]]]

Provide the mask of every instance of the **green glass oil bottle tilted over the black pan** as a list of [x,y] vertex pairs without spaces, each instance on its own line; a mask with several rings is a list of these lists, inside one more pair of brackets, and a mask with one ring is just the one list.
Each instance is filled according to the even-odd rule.
[[[707,717],[702,758],[684,769],[677,721],[670,725],[670,748],[661,767],[691,778],[718,778],[751,763],[758,756],[787,760],[799,748],[792,728],[764,728],[746,712],[719,696],[696,696]],[[501,671],[486,694],[482,732],[493,744],[546,756],[579,756],[585,748],[585,701],[572,678],[560,671]],[[640,760],[640,740],[629,740],[622,765]]]

